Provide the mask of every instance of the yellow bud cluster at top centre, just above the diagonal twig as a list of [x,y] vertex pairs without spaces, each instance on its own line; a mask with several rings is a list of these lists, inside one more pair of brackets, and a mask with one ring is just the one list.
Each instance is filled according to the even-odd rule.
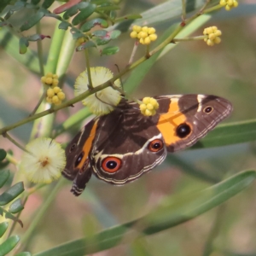
[[141,27],[137,25],[132,26],[132,32],[130,36],[131,38],[138,38],[141,44],[150,44],[157,38],[154,27]]

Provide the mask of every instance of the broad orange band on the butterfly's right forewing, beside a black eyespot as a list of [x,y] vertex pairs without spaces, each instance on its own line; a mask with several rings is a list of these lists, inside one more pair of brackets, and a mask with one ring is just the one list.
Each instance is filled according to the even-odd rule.
[[176,129],[178,125],[185,122],[186,116],[178,108],[178,99],[172,99],[168,113],[161,114],[157,123],[157,128],[164,137],[167,146],[181,140],[180,137],[177,137]]

